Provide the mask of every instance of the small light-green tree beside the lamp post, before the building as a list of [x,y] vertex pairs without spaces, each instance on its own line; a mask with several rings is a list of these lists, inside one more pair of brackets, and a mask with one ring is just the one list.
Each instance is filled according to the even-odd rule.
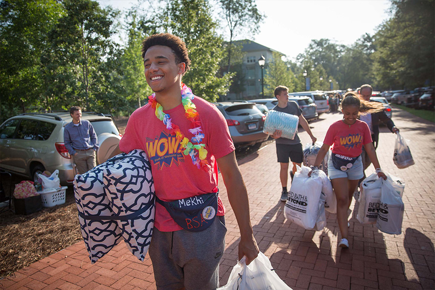
[[281,54],[276,51],[272,52],[272,60],[268,64],[264,75],[264,94],[273,96],[277,86],[285,86],[288,91],[294,91],[293,78],[293,71],[283,62]]

